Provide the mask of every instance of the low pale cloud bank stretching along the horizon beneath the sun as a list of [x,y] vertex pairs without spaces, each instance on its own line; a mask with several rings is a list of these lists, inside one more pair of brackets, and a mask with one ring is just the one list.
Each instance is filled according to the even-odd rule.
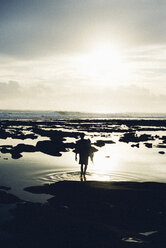
[[135,85],[121,87],[21,86],[0,83],[2,109],[87,112],[165,112],[166,94],[153,94]]

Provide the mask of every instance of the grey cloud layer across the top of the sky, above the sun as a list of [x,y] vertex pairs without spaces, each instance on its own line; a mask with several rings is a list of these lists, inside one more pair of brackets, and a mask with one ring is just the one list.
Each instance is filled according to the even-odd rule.
[[166,42],[165,0],[6,0],[0,9],[0,53],[12,56],[86,50],[97,39],[128,47]]

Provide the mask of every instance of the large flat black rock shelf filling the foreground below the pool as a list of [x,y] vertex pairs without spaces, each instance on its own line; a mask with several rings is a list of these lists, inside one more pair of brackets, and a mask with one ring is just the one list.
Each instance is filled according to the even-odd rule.
[[[166,185],[71,182],[35,186],[46,204],[20,203],[2,247],[166,247]],[[146,234],[150,233],[150,234]]]

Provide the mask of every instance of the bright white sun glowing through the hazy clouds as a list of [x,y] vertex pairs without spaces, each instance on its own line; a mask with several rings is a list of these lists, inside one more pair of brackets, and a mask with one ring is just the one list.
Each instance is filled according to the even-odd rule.
[[126,74],[122,55],[113,46],[102,44],[80,58],[81,72],[96,82],[110,84]]

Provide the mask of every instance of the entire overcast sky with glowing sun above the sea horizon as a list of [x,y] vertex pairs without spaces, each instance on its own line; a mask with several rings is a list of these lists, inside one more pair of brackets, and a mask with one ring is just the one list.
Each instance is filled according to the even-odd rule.
[[165,0],[0,0],[0,109],[165,112]]

